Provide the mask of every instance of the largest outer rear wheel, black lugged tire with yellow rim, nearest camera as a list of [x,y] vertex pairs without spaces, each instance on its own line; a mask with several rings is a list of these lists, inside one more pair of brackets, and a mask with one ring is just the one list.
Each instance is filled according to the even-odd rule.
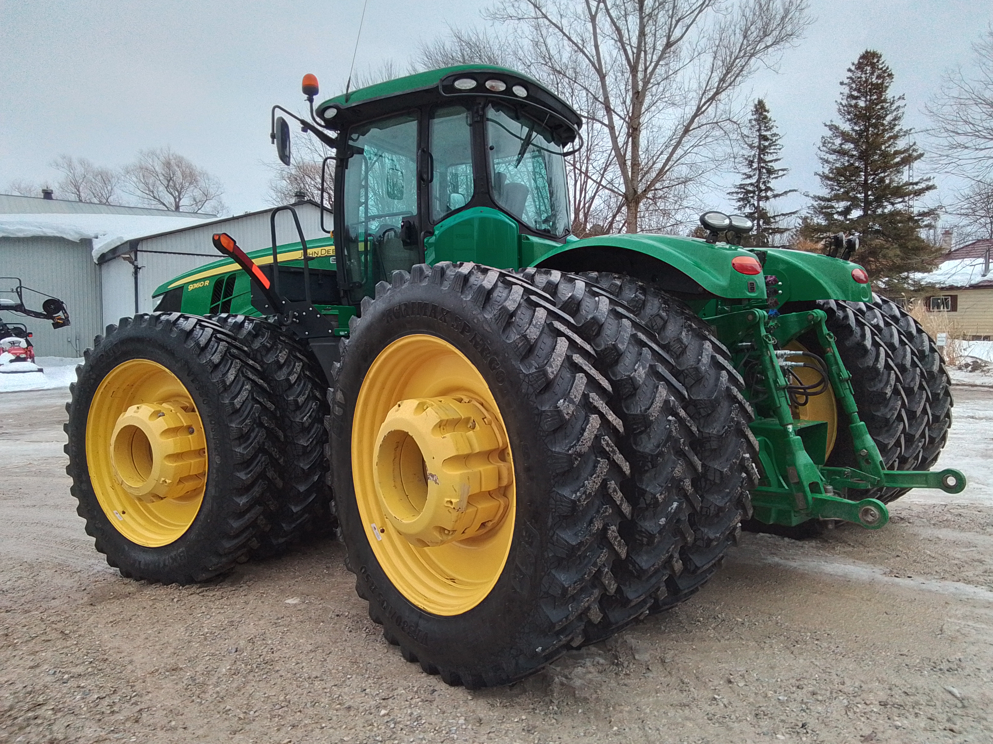
[[470,688],[581,644],[616,584],[627,463],[569,317],[513,274],[444,262],[380,282],[351,331],[332,471],[347,565],[385,639]]

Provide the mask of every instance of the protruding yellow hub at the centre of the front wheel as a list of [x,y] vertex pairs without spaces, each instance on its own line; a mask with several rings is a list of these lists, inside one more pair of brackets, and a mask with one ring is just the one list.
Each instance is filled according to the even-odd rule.
[[203,491],[207,439],[200,416],[178,401],[131,406],[110,435],[114,480],[139,501]]

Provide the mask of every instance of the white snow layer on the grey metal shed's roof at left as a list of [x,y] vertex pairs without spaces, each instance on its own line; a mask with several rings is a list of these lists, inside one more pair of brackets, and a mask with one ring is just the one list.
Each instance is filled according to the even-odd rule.
[[93,261],[111,248],[147,235],[205,223],[204,216],[138,214],[0,214],[0,237],[93,241]]

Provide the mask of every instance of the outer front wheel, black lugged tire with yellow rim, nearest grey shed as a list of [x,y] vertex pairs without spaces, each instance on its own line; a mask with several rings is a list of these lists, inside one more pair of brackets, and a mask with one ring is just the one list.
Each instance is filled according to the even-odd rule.
[[121,318],[76,368],[66,472],[122,576],[204,581],[248,558],[271,490],[269,388],[213,320]]

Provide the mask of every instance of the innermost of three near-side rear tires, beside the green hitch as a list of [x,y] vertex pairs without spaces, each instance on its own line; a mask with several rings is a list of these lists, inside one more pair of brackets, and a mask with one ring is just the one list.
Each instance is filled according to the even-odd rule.
[[681,571],[666,579],[652,612],[670,609],[696,593],[738,542],[741,522],[752,517],[749,494],[759,482],[759,443],[749,424],[752,407],[730,354],[710,326],[676,298],[632,277],[584,273],[625,303],[654,334],[664,369],[685,391],[683,408],[695,428],[689,446],[699,462],[693,479],[692,539],[678,554]]

